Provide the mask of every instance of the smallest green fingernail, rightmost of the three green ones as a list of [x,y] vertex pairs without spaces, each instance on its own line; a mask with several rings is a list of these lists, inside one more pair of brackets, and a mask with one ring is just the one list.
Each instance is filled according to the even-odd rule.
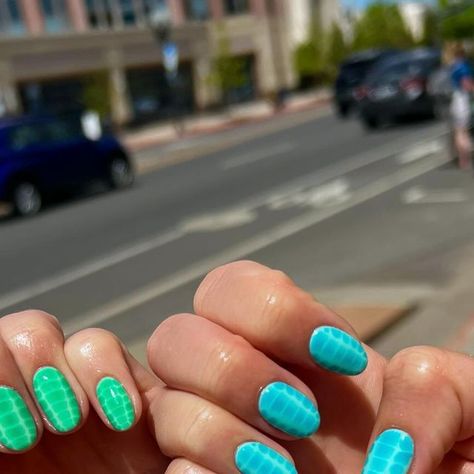
[[104,377],[97,385],[97,399],[117,431],[128,430],[135,421],[133,403],[124,386],[113,377]]

